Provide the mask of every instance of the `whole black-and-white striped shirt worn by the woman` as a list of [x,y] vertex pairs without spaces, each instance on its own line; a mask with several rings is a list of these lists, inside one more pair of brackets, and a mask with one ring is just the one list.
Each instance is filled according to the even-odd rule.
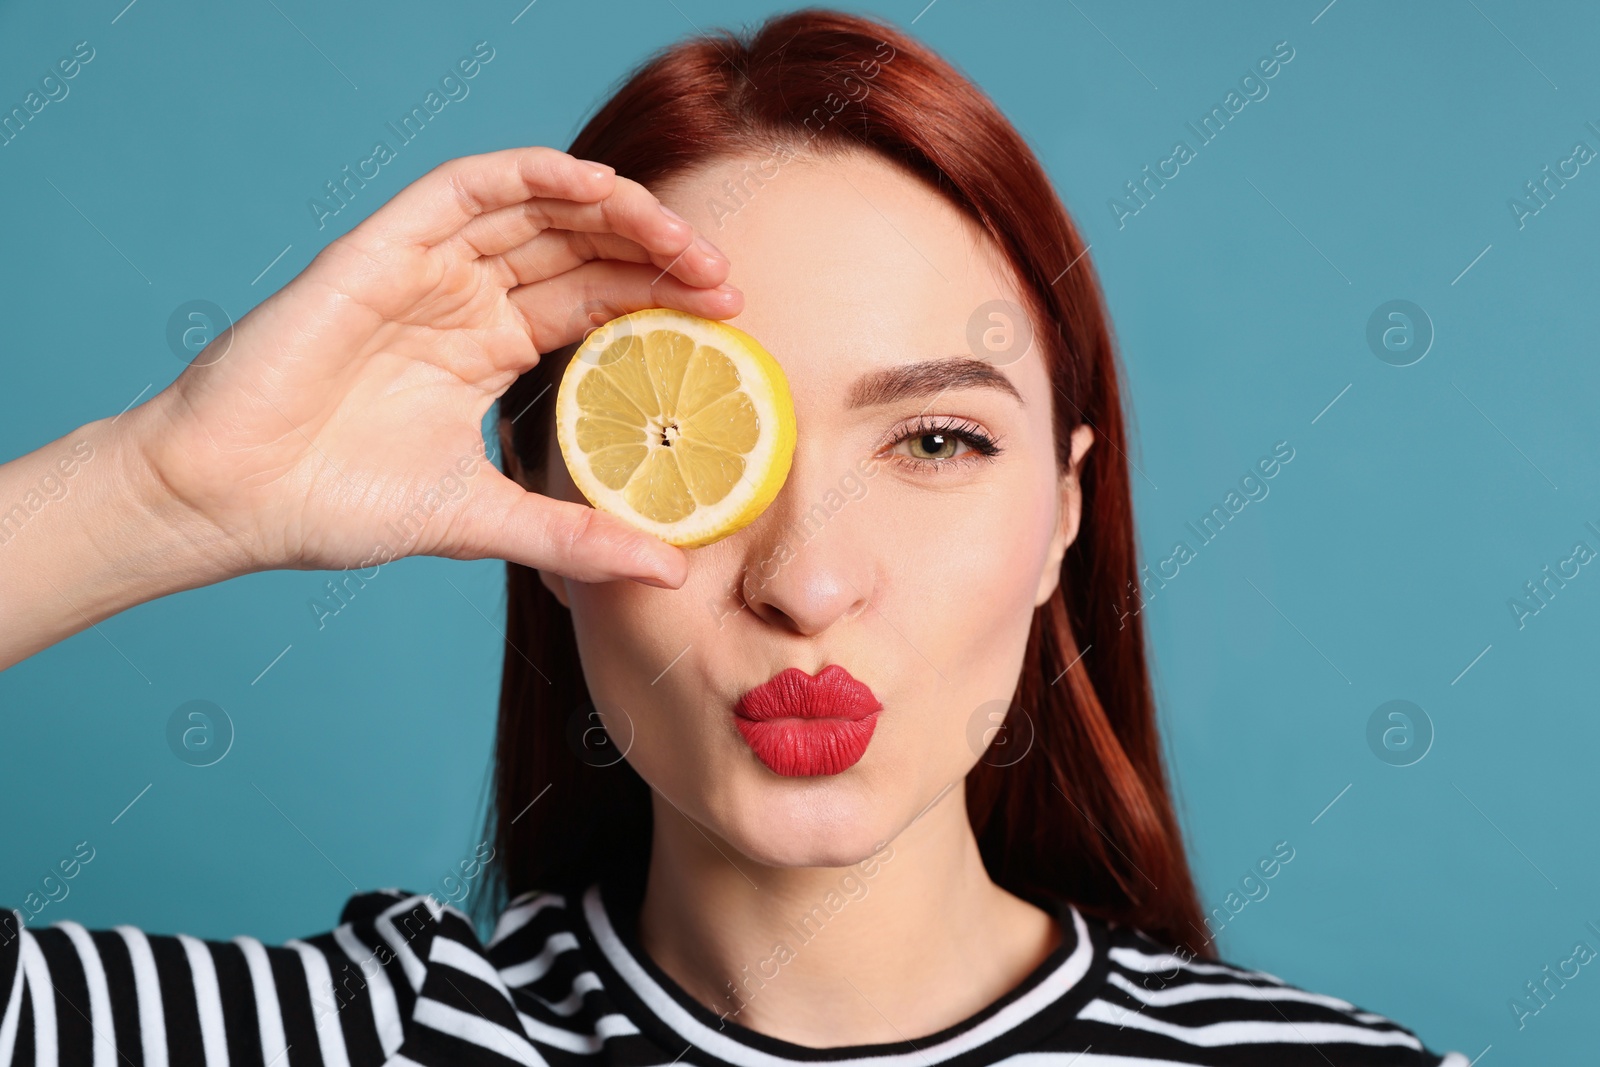
[[[598,886],[525,894],[485,945],[454,907],[386,889],[350,897],[330,933],[267,947],[0,912],[0,1067],[1469,1067],[1382,1016],[1179,960],[1069,904],[1062,944],[965,1022],[805,1048],[693,1000],[630,915]],[[762,981],[742,976],[744,997]]]

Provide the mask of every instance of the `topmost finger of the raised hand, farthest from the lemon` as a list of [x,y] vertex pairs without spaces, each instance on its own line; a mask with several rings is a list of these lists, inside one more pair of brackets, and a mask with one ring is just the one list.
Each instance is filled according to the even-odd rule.
[[466,155],[418,178],[352,234],[432,246],[472,219],[530,197],[587,203],[611,195],[616,181],[610,166],[544,146]]

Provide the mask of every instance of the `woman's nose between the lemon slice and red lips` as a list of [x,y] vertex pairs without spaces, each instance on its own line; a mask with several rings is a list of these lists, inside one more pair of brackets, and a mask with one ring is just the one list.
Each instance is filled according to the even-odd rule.
[[746,531],[739,589],[768,625],[814,637],[870,606],[878,563],[862,501],[802,462],[797,451],[784,488]]

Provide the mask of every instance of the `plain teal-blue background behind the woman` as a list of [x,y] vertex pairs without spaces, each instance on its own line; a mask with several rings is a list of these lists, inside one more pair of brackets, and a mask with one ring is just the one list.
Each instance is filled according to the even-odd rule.
[[[1600,925],[1600,568],[1525,629],[1507,598],[1574,541],[1600,547],[1582,526],[1600,525],[1600,166],[1523,229],[1507,200],[1574,141],[1600,149],[1584,128],[1600,125],[1600,16],[1510,0],[925,2],[861,10],[915,18],[998,101],[1093,243],[1149,557],[1192,542],[1184,523],[1275,442],[1296,450],[1146,608],[1205,902],[1274,843],[1296,849],[1222,931],[1224,953],[1434,1048],[1493,1046],[1486,1067],[1592,1054],[1600,966],[1520,1030],[1509,998],[1574,942],[1600,949],[1584,926]],[[0,147],[5,458],[170,382],[181,302],[240,315],[434,163],[565,147],[650,50],[778,8],[539,0],[514,24],[525,0],[123,3],[0,8],[6,109],[75,42],[96,50],[70,96]],[[478,40],[496,58],[470,96],[318,230],[307,198]],[[1109,197],[1174,139],[1194,144],[1184,123],[1283,40],[1294,59],[1270,94],[1118,229]],[[1413,366],[1368,350],[1368,315],[1390,299],[1435,325]],[[94,861],[40,921],[280,941],[331,926],[354,886],[429,888],[469,856],[502,565],[392,565],[318,632],[323,577],[168,597],[0,675],[0,901],[86,838]],[[1366,742],[1395,697],[1437,731],[1406,768]],[[189,699],[234,718],[216,766],[166,747]]]

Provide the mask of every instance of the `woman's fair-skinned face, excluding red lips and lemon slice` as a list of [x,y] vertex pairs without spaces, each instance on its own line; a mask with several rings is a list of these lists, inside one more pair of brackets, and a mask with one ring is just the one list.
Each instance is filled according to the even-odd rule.
[[[982,230],[874,155],[762,158],[706,163],[658,195],[728,254],[746,298],[728,322],[789,378],[789,480],[752,525],[688,550],[682,589],[541,576],[573,613],[606,731],[658,793],[749,859],[840,867],[992,739],[1078,490]],[[1074,475],[1090,438],[1074,437]],[[582,501],[554,440],[546,478]],[[837,774],[768,769],[736,726],[739,696],[829,664],[883,705],[864,755]]]

